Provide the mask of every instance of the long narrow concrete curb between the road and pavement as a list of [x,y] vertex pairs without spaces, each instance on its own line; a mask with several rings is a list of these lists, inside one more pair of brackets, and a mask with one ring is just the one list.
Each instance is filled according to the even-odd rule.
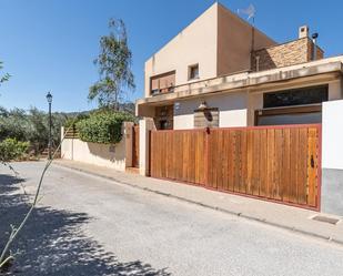
[[219,206],[213,206],[213,205],[204,204],[202,202],[181,197],[181,196],[178,196],[178,195],[163,193],[163,192],[158,191],[158,190],[152,190],[152,188],[149,188],[149,187],[142,187],[142,186],[139,186],[139,185],[135,185],[135,184],[132,184],[132,183],[129,183],[129,182],[117,180],[115,177],[112,177],[112,176],[98,174],[98,173],[90,172],[90,171],[87,171],[87,170],[83,170],[83,168],[80,168],[80,167],[73,167],[73,166],[61,164],[61,163],[53,163],[53,164],[61,166],[61,167],[67,167],[67,168],[73,170],[73,171],[78,171],[78,172],[81,172],[81,173],[98,176],[98,177],[101,177],[101,178],[105,178],[105,180],[109,180],[109,181],[114,181],[117,183],[120,183],[120,184],[123,184],[123,185],[127,185],[127,186],[130,186],[130,187],[133,187],[133,188],[139,188],[139,190],[147,191],[147,192],[150,192],[150,193],[168,196],[168,197],[175,198],[175,200],[179,200],[179,201],[182,201],[182,202],[195,204],[195,205],[199,205],[199,206],[202,206],[202,207],[205,207],[205,208],[219,211],[219,212],[222,212],[222,213],[225,213],[225,214],[229,214],[229,215],[242,217],[242,218],[245,218],[245,219],[249,219],[249,221],[254,221],[254,222],[258,222],[258,223],[266,224],[266,225],[270,225],[270,226],[273,226],[273,227],[286,229],[286,231],[290,231],[290,232],[293,232],[293,233],[297,233],[297,234],[305,235],[305,236],[311,236],[311,237],[314,237],[314,238],[319,238],[319,239],[322,239],[322,241],[325,241],[325,242],[330,242],[330,243],[334,243],[336,245],[343,246],[343,239],[340,239],[340,238],[317,234],[317,233],[314,233],[314,232],[304,231],[304,229],[297,228],[295,226],[289,226],[289,225],[284,225],[284,224],[280,224],[280,223],[275,223],[275,222],[270,222],[270,221],[268,221],[263,217],[245,215],[243,213],[225,209],[225,208],[222,208],[222,207],[219,207]]

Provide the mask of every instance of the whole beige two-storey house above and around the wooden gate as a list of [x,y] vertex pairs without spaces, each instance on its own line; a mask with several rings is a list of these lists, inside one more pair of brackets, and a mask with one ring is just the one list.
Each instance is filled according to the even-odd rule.
[[324,58],[315,40],[303,25],[280,44],[220,3],[210,7],[145,62],[141,173],[150,130],[321,124],[323,209],[343,214],[343,57]]

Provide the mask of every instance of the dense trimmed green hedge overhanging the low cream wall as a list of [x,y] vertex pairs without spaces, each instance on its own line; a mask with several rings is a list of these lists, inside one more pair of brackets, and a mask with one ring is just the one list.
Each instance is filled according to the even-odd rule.
[[124,112],[102,112],[91,114],[89,119],[77,123],[80,139],[84,142],[117,144],[122,139],[123,122],[133,122],[134,117]]

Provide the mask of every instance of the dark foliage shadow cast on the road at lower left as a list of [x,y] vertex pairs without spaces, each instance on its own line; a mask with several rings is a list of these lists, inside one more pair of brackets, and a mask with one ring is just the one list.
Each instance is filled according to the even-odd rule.
[[[28,196],[20,191],[22,181],[0,175],[0,251],[8,238],[9,225],[18,225],[30,207]],[[38,207],[12,246],[19,255],[11,272],[4,275],[170,275],[140,260],[121,263],[112,253],[104,252],[80,231],[90,219],[85,213]]]

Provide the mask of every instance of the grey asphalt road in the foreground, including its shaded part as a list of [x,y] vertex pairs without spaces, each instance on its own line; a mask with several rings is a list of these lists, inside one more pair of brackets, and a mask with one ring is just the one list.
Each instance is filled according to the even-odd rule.
[[[0,246],[42,163],[0,168]],[[13,184],[16,182],[17,184]],[[343,247],[52,166],[16,275],[343,275]]]

